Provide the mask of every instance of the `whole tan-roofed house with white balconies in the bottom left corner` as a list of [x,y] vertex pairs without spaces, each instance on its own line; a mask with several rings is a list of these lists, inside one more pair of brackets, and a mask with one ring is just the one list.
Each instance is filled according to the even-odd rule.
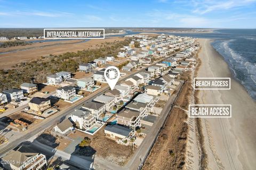
[[2,160],[6,163],[2,164],[4,169],[8,170],[44,170],[47,168],[45,155],[39,154],[25,146],[21,146],[17,150],[11,150]]

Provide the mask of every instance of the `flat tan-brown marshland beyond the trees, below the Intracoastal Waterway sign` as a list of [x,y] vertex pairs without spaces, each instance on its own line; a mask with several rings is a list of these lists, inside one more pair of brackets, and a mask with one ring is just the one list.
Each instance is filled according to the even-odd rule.
[[[78,50],[83,50],[83,49],[94,49],[94,48],[99,48],[101,44],[106,42],[113,43],[114,41],[122,41],[122,40],[124,40],[124,38],[111,37],[106,39],[91,39],[84,43],[77,43],[79,40],[70,40],[70,41],[66,40],[65,42],[62,42],[62,41],[58,41],[58,43],[54,42],[55,44],[53,42],[45,42],[45,43],[36,43],[29,46],[2,48],[0,49],[0,52],[14,50],[16,48],[19,49],[20,51],[0,54],[0,63],[4,63],[1,65],[0,69],[10,69],[15,64],[18,64],[20,62],[35,60],[40,58],[41,56],[47,56],[50,54],[59,55],[66,52],[77,52]],[[27,49],[33,46],[34,48]]]

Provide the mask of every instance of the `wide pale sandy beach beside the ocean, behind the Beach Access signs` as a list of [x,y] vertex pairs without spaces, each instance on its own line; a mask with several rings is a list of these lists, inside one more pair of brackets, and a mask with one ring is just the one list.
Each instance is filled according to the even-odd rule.
[[209,169],[255,169],[256,103],[236,81],[223,57],[199,39],[202,64],[197,77],[231,78],[230,90],[200,90],[198,104],[231,104],[231,118],[202,118]]

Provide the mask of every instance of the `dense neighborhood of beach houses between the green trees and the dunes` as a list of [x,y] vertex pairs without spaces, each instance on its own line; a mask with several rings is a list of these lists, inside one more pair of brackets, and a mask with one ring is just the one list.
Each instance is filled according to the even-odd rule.
[[[177,97],[184,82],[181,75],[195,68],[195,52],[199,47],[196,39],[190,37],[162,34],[155,37],[127,35],[125,38],[131,39],[130,44],[119,49],[116,56],[101,56],[80,63],[77,72],[84,77],[76,78],[74,73],[62,70],[49,73],[40,84],[23,82],[19,88],[4,89],[0,92],[0,112],[9,118],[3,123],[15,129],[15,134],[23,135],[42,121],[52,121],[43,134],[51,134],[60,142],[63,139],[64,143],[70,138],[79,140],[78,145],[90,138],[96,145],[94,138],[99,138],[114,142],[118,147],[136,149],[144,145],[153,127],[167,114],[165,105],[171,106]],[[108,65],[119,66],[121,72],[113,90],[104,76]],[[42,91],[44,88],[50,90]],[[85,138],[73,138],[76,134],[83,134]],[[38,138],[42,140],[44,135]],[[11,140],[15,138],[6,136],[0,147]],[[76,146],[63,146],[60,152],[76,150]],[[39,150],[20,146],[18,150],[6,152],[2,159],[7,161],[19,154],[21,156],[15,159],[22,162],[26,157],[26,163],[10,162],[5,165],[7,169],[31,169],[34,164],[30,160],[37,160],[35,166],[39,168],[45,167],[47,157]]]

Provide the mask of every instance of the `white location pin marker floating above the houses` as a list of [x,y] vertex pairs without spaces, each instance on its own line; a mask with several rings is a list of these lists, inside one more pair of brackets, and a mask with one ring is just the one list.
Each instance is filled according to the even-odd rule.
[[119,69],[115,66],[107,67],[104,72],[104,77],[107,80],[110,89],[113,90],[120,77]]

